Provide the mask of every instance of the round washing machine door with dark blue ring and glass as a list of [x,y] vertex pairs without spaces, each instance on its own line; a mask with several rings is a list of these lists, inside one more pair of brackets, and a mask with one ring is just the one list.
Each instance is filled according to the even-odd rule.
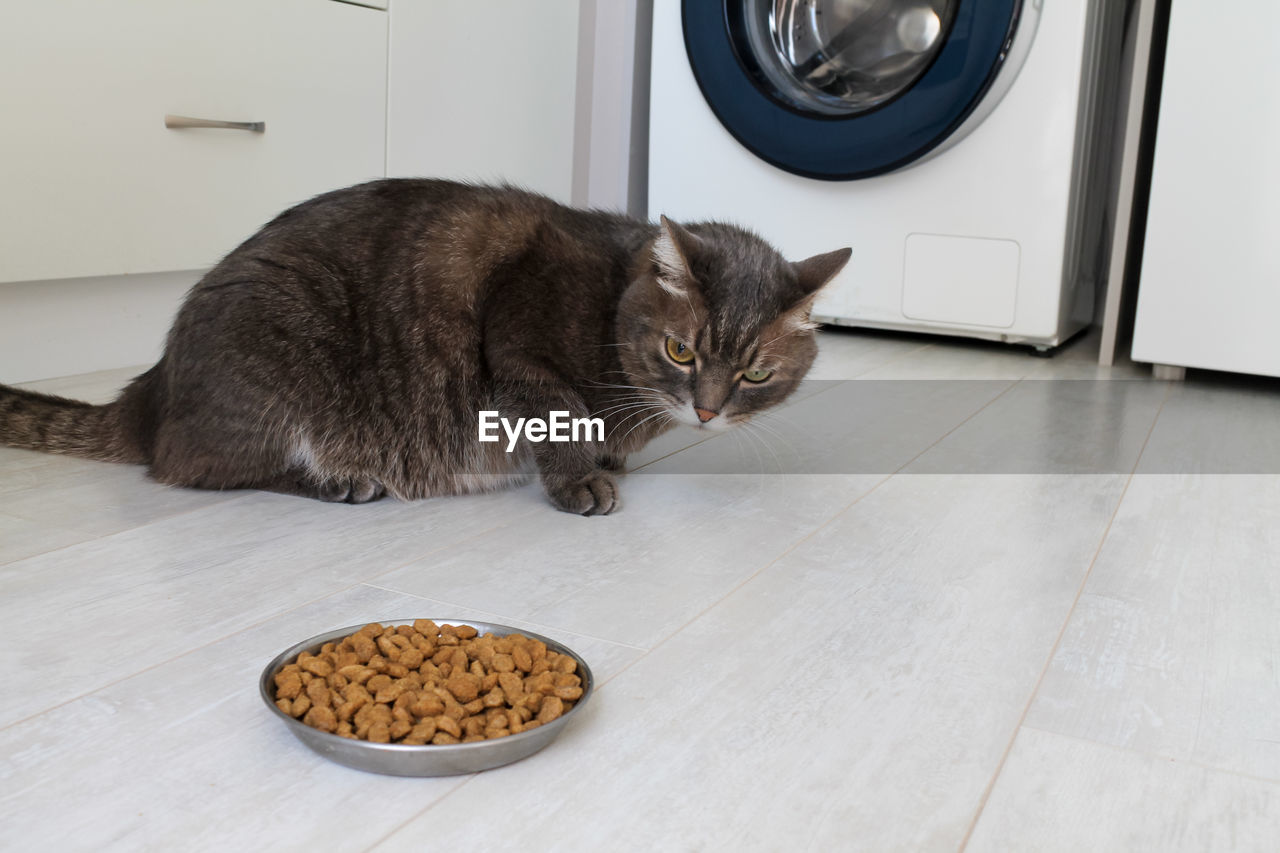
[[703,96],[739,142],[809,178],[923,163],[995,109],[1041,0],[684,0]]

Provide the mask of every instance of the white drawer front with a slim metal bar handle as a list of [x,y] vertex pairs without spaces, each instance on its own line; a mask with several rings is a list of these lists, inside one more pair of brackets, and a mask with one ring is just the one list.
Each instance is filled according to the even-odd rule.
[[284,207],[383,175],[385,97],[379,9],[6,3],[0,282],[210,266]]

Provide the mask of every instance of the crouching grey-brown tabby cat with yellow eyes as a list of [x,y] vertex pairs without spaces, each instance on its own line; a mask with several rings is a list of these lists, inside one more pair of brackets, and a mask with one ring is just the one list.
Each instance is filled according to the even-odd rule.
[[[513,187],[393,178],[284,211],[187,295],[111,403],[0,386],[0,443],[160,483],[364,503],[524,482],[620,506],[626,456],[676,424],[778,405],[849,248],[788,263],[728,224],[658,224]],[[604,438],[477,439],[480,411],[599,418]]]

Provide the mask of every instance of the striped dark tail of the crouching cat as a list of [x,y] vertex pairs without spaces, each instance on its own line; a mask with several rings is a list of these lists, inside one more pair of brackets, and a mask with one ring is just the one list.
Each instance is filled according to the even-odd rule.
[[159,368],[105,406],[0,386],[0,444],[102,462],[150,462]]

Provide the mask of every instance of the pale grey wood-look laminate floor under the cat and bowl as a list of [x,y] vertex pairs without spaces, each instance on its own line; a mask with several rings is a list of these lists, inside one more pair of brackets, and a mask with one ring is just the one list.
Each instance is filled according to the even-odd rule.
[[[663,437],[609,517],[0,448],[0,848],[1274,850],[1280,383],[1093,351],[823,333],[786,409]],[[262,707],[284,647],[413,616],[556,637],[599,690],[448,779]]]

